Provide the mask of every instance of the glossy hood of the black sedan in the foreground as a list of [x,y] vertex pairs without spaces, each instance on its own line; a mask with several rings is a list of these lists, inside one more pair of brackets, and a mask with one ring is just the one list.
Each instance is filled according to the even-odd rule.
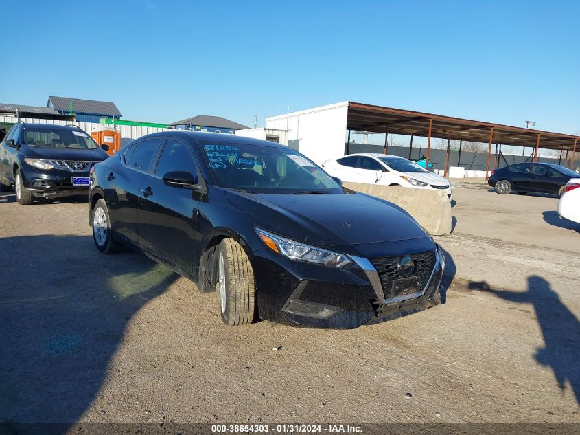
[[404,241],[428,234],[402,208],[367,194],[251,194],[229,190],[254,225],[318,246]]

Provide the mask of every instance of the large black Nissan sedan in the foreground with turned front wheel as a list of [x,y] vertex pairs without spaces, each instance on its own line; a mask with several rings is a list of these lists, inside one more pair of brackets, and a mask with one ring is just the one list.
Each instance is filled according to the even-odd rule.
[[413,218],[272,142],[142,137],[91,171],[89,223],[101,252],[130,244],[218,291],[226,324],[356,328],[439,304],[445,260]]

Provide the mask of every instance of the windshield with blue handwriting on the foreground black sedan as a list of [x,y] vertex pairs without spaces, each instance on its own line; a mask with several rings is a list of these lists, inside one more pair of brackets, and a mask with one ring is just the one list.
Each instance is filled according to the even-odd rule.
[[255,193],[342,193],[326,172],[292,148],[201,144],[216,184]]

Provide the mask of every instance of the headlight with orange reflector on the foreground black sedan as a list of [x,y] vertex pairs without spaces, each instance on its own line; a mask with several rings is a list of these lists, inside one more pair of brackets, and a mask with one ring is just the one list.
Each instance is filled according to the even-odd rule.
[[344,254],[296,242],[290,240],[290,238],[277,236],[260,228],[256,228],[255,230],[259,238],[264,242],[264,245],[277,254],[290,258],[290,260],[305,261],[307,263],[316,263],[317,265],[329,267],[343,267],[352,263],[351,259]]

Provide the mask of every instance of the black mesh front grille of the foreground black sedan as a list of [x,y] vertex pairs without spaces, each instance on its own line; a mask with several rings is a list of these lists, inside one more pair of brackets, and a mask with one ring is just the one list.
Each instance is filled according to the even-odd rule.
[[[415,270],[410,274],[410,276],[417,276],[417,282],[419,282],[419,289],[417,290],[423,291],[435,265],[435,252],[427,251],[421,252],[419,254],[410,254],[409,256],[410,258],[413,258],[413,263],[415,263]],[[399,274],[398,270],[398,264],[401,258],[403,257],[399,256],[371,259],[371,263],[373,263],[373,266],[378,271],[385,299],[402,297],[416,292],[413,285],[410,287],[393,289],[393,282],[395,282],[395,280],[399,278],[405,278]]]

